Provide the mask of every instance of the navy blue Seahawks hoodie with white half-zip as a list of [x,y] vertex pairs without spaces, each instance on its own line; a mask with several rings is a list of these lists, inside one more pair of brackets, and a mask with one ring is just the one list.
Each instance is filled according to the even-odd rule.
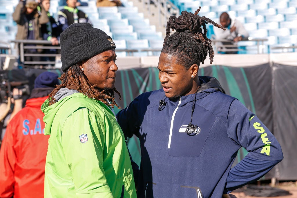
[[[221,198],[265,175],[283,158],[271,132],[214,77],[199,77],[195,94],[168,99],[162,89],[141,94],[118,115],[127,137],[141,146],[138,197]],[[166,105],[158,110],[159,100]],[[249,153],[231,165],[239,148]]]

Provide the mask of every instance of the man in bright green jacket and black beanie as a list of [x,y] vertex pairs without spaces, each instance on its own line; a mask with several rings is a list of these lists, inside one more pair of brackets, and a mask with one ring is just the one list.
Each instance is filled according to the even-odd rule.
[[136,197],[124,134],[113,106],[115,44],[89,23],[61,33],[61,85],[42,104],[50,135],[45,197]]

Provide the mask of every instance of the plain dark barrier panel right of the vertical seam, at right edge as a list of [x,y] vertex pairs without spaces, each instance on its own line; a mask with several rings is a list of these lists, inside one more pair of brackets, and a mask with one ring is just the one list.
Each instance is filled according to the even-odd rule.
[[276,178],[297,179],[297,66],[273,65],[274,135],[284,159],[277,164]]

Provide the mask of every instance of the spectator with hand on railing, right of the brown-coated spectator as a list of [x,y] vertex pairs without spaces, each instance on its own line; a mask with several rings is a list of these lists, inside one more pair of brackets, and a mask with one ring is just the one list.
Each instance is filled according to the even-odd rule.
[[41,4],[47,12],[49,22],[41,25],[42,37],[44,40],[52,42],[52,45],[59,44],[60,29],[59,24],[48,12],[50,9],[50,0],[41,0]]

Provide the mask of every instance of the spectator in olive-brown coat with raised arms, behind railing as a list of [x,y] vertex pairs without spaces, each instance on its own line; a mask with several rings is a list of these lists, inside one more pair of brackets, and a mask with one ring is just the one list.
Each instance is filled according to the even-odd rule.
[[[18,24],[16,40],[42,40],[41,25],[48,23],[49,19],[45,9],[40,7],[37,10],[38,3],[32,0],[20,0],[12,14],[13,20]],[[34,44],[28,44],[35,46]],[[25,53],[40,53],[42,50],[25,49]],[[25,56],[25,61],[40,61],[39,56]]]

